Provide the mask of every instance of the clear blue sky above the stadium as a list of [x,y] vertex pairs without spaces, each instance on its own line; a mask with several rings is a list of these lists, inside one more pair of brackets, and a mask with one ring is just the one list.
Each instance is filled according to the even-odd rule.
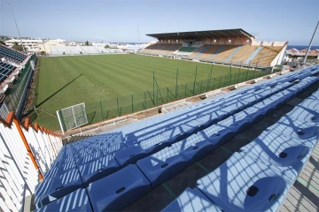
[[[308,44],[318,0],[0,0],[0,34],[90,42],[140,42],[152,33],[243,28],[259,41]],[[319,32],[314,45],[319,45]]]

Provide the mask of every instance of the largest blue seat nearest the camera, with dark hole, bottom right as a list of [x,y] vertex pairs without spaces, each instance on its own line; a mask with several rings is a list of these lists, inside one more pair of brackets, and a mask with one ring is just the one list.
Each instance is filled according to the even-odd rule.
[[235,153],[198,179],[198,189],[224,211],[276,211],[291,186],[264,163]]

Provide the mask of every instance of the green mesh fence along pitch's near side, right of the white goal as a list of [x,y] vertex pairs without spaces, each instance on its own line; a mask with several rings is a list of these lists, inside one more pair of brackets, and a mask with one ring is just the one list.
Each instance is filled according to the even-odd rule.
[[154,90],[123,95],[117,98],[102,100],[100,102],[85,102],[89,124],[103,121],[113,117],[120,117],[141,110],[174,102],[183,98],[200,95],[207,91],[228,87],[239,82],[260,78],[272,72],[281,72],[282,66],[267,67],[259,70],[243,70],[230,72],[219,78],[196,79],[172,87],[155,87]]

